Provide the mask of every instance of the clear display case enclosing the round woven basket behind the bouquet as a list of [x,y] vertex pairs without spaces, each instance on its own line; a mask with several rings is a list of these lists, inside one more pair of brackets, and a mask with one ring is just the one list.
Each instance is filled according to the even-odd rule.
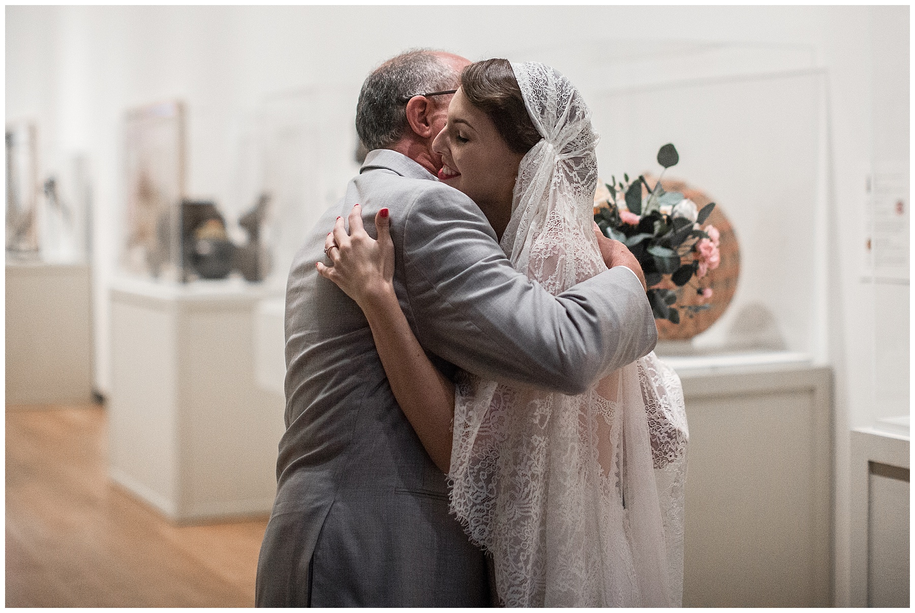
[[739,246],[733,298],[705,332],[659,354],[823,357],[825,77],[809,48],[635,41],[514,57],[551,64],[582,90],[602,179],[657,176],[655,154],[674,143],[680,163],[665,179],[727,216]]

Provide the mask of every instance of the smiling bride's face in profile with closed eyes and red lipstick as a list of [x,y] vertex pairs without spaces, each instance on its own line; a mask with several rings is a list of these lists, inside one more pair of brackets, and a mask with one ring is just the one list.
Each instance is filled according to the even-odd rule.
[[462,90],[451,99],[447,123],[432,150],[445,164],[438,178],[470,196],[501,236],[511,217],[511,191],[524,154],[509,149],[496,124]]

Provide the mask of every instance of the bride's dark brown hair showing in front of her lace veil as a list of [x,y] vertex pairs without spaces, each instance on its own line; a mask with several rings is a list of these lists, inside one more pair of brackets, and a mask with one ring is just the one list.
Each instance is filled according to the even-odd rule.
[[470,103],[496,124],[512,152],[527,153],[540,142],[509,60],[493,58],[470,64],[461,73],[460,86]]

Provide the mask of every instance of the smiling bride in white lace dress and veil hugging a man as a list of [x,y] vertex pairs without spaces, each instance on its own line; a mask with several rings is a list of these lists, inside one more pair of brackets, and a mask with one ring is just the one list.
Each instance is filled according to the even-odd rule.
[[[468,66],[433,149],[516,270],[558,294],[606,270],[591,220],[597,134],[580,94],[539,63]],[[452,483],[451,511],[492,557],[504,606],[679,606],[686,422],[651,353],[579,396],[461,373],[425,357],[393,291],[387,209],[378,240],[338,218],[318,272],[356,301],[406,415],[453,415],[417,435]],[[445,297],[447,299],[447,296]],[[408,359],[409,358],[409,359]]]

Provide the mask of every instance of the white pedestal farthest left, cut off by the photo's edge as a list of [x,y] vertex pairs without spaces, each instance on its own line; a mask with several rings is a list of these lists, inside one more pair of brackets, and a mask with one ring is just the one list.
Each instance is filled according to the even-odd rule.
[[6,264],[6,404],[92,402],[86,264]]

